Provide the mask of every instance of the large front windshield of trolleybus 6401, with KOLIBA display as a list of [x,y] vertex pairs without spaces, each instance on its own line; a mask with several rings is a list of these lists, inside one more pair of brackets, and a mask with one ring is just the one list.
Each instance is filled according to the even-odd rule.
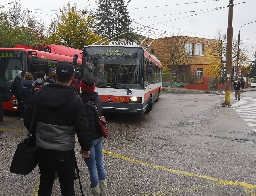
[[142,48],[85,47],[83,54],[83,77],[93,78],[97,87],[143,88]]

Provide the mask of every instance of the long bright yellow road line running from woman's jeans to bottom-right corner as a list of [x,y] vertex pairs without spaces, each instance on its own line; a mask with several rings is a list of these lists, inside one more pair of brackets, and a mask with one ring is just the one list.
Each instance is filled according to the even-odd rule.
[[127,161],[137,163],[137,164],[140,164],[140,165],[148,166],[148,167],[151,167],[151,168],[157,168],[157,169],[160,169],[160,170],[165,170],[165,171],[168,171],[168,172],[173,172],[173,173],[182,174],[182,175],[186,175],[186,176],[197,177],[197,178],[202,178],[202,179],[206,179],[206,180],[212,180],[212,181],[219,182],[219,183],[222,183],[222,184],[241,186],[241,187],[244,187],[246,189],[245,191],[246,191],[247,196],[255,196],[254,191],[252,192],[251,189],[256,188],[256,185],[248,184],[246,182],[222,180],[222,179],[213,178],[213,177],[210,177],[210,176],[204,176],[204,175],[194,174],[194,173],[190,173],[190,172],[184,172],[184,171],[181,171],[181,170],[175,170],[175,169],[172,169],[172,168],[153,165],[153,164],[149,164],[149,163],[146,163],[146,162],[141,162],[139,160],[130,159],[128,157],[124,157],[122,155],[112,153],[110,151],[106,151],[104,149],[102,149],[102,152],[104,152],[106,154],[109,154],[109,155],[112,155],[113,157],[118,157],[120,159],[127,160]]

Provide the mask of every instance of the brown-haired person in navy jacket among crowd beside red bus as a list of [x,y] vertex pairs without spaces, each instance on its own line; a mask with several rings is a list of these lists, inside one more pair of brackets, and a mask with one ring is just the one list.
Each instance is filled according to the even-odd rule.
[[32,98],[32,84],[34,83],[34,77],[31,73],[26,73],[25,80],[22,81],[20,86],[20,95],[22,96],[22,101],[24,104],[24,114],[27,110],[28,103],[30,99]]

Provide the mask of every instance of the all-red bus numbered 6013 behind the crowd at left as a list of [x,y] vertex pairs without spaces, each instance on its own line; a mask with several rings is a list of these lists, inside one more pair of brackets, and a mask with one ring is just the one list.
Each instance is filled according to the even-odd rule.
[[17,111],[18,101],[11,92],[11,84],[19,71],[25,70],[38,76],[39,71],[48,75],[50,68],[60,61],[73,62],[78,55],[75,70],[82,70],[82,51],[61,45],[37,45],[36,47],[16,44],[14,48],[0,48],[0,94],[3,110]]

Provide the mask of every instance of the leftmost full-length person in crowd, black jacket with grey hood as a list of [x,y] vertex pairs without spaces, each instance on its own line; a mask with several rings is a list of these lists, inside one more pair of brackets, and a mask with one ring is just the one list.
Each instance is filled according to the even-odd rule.
[[19,71],[11,86],[12,93],[18,101],[18,120],[23,120],[24,116],[24,106],[22,103],[22,97],[20,95],[20,85],[21,81],[25,78],[26,73],[26,71]]

